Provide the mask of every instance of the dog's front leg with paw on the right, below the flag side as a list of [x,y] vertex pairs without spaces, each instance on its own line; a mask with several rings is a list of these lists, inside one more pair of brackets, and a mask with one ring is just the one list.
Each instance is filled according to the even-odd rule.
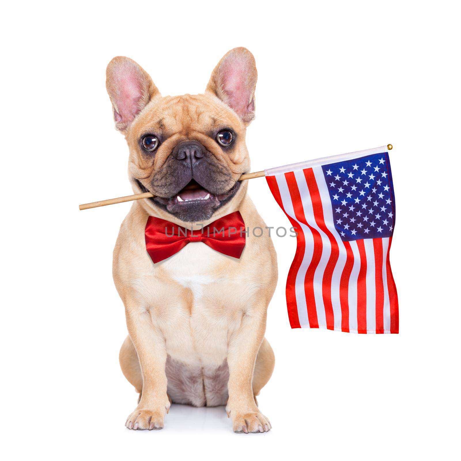
[[256,356],[266,330],[266,306],[243,314],[240,328],[231,337],[227,354],[229,400],[226,412],[235,432],[267,432],[272,427],[258,409],[253,395]]

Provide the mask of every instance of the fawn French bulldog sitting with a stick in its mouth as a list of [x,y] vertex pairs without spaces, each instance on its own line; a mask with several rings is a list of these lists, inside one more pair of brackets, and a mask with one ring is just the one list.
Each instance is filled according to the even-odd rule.
[[[113,252],[113,279],[129,336],[120,350],[124,376],[139,393],[125,426],[164,427],[171,402],[225,405],[238,433],[272,426],[256,401],[274,368],[264,337],[277,284],[277,257],[247,194],[245,145],[254,118],[257,71],[246,48],[234,48],[213,70],[204,94],[160,95],[132,59],[106,71],[117,130],[130,149],[133,202]],[[150,216],[188,229],[240,212],[249,229],[240,259],[191,242],[155,263],[146,251]]]

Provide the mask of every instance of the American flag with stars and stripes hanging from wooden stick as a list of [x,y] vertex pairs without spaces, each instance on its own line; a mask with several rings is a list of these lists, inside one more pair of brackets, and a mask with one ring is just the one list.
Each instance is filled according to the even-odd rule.
[[389,261],[396,208],[387,148],[265,173],[297,231],[286,284],[291,327],[398,333]]

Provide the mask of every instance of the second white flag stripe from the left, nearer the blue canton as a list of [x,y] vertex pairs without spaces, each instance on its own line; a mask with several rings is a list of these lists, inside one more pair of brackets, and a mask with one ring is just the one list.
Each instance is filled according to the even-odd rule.
[[323,293],[322,293],[322,282],[323,274],[325,272],[325,267],[330,259],[331,254],[331,244],[330,240],[326,236],[325,232],[322,231],[317,223],[315,222],[314,212],[312,207],[311,195],[309,189],[307,188],[306,177],[304,176],[304,171],[295,171],[296,183],[298,184],[299,193],[301,195],[302,206],[304,208],[304,216],[306,217],[306,222],[308,222],[314,229],[319,231],[320,238],[322,239],[322,255],[319,260],[319,264],[315,269],[314,273],[314,298],[315,298],[315,307],[317,309],[317,319],[319,321],[319,326],[326,326],[326,315],[325,315],[325,305],[323,303]]

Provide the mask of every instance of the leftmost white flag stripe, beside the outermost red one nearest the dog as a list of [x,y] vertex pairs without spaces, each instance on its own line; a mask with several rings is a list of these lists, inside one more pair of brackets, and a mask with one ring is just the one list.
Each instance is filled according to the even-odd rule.
[[[312,232],[307,227],[307,225],[300,223],[295,216],[295,211],[293,210],[293,203],[291,201],[290,191],[288,190],[288,184],[286,182],[285,175],[280,174],[275,177],[278,189],[280,191],[280,197],[282,198],[282,203],[284,205],[285,212],[295,219],[300,228],[304,233],[304,238],[306,241],[306,249],[304,251],[304,256],[302,258],[301,266],[299,267],[298,272],[296,273],[296,282],[295,282],[295,295],[296,295],[296,307],[298,308],[298,318],[301,326],[309,326],[309,318],[307,317],[307,305],[306,305],[306,292],[304,291],[304,278],[306,277],[307,267],[312,260],[313,255],[313,237]],[[313,301],[313,300],[312,300]]]

